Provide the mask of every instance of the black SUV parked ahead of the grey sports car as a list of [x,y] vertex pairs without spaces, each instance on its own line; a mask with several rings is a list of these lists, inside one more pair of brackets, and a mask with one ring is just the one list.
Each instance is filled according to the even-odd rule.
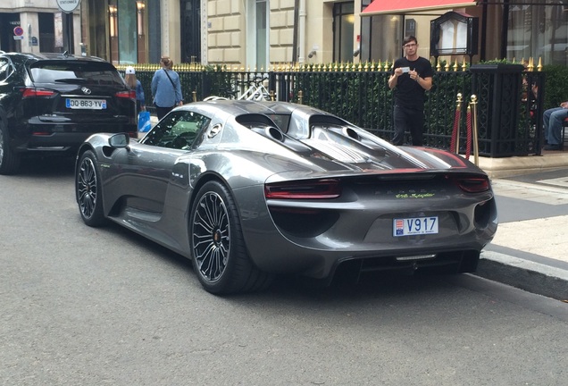
[[92,133],[137,130],[136,92],[113,64],[0,51],[0,174],[17,172],[22,155],[74,155]]

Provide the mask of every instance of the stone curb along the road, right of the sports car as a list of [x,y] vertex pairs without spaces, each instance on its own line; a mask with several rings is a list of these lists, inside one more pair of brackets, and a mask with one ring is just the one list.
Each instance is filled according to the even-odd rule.
[[482,251],[477,272],[473,274],[547,298],[568,300],[568,272],[561,268]]

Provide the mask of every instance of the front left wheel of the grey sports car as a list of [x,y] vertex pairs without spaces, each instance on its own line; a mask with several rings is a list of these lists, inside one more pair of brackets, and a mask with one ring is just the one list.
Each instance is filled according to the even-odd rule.
[[79,204],[79,213],[88,226],[97,227],[106,221],[102,193],[96,156],[88,150],[80,155],[75,175],[75,195]]

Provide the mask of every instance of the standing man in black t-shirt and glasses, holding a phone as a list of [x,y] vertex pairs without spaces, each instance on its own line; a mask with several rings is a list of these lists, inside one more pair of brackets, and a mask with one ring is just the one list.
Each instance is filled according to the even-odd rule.
[[413,36],[403,40],[405,56],[397,59],[388,79],[388,88],[395,89],[395,136],[393,145],[403,145],[405,131],[410,131],[413,146],[422,146],[424,130],[424,91],[432,88],[432,65],[418,56],[418,41]]

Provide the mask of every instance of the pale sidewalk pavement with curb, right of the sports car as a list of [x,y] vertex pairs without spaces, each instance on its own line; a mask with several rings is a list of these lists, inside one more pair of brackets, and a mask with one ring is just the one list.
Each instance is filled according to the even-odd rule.
[[[475,274],[568,302],[568,154],[535,160],[539,172],[512,162],[510,172],[499,167],[506,178],[492,179],[499,225]],[[554,167],[542,168],[546,163]]]

